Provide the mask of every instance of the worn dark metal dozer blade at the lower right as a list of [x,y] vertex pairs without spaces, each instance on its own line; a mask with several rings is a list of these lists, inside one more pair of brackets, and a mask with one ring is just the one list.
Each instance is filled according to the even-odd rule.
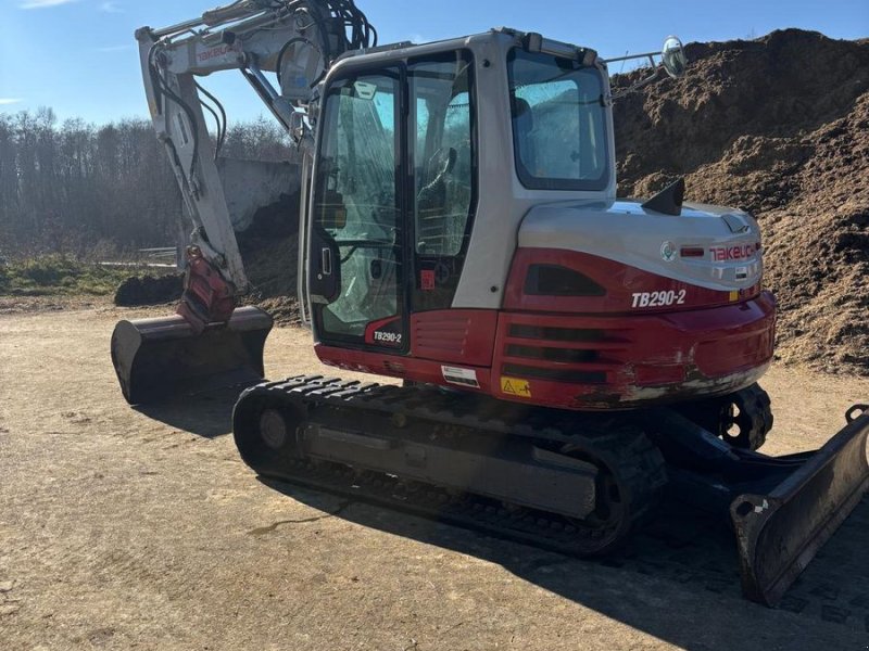
[[[869,489],[869,408],[767,495],[745,494],[730,507],[745,596],[776,605]],[[864,413],[856,418],[856,412]]]

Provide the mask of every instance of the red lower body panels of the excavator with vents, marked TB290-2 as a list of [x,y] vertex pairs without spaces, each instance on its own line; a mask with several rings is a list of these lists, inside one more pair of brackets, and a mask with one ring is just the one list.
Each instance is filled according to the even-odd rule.
[[[526,294],[528,269],[540,264],[577,270],[605,293]],[[684,303],[637,307],[635,295],[647,292],[684,292]],[[406,356],[324,344],[316,353],[331,366],[505,400],[629,409],[756,382],[771,361],[774,330],[776,301],[759,286],[716,292],[587,254],[519,250],[503,310],[415,314]]]

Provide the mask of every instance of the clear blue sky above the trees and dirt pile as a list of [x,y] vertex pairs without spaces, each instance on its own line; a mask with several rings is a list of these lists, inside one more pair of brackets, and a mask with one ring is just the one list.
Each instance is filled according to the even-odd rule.
[[[133,33],[198,15],[219,0],[0,0],[0,113],[51,106],[61,119],[146,117]],[[228,3],[228,2],[224,2]],[[869,36],[869,0],[356,0],[381,42],[434,40],[507,25],[595,48],[604,56],[801,27],[832,38]],[[615,69],[615,68],[614,68]],[[240,75],[203,84],[230,122],[263,107]]]

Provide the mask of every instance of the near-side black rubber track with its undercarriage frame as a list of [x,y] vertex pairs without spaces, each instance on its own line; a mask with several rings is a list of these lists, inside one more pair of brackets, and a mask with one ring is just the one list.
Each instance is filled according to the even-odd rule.
[[495,509],[500,534],[528,539],[545,522],[583,556],[617,545],[667,483],[660,454],[629,423],[467,398],[294,378],[242,396],[236,443],[264,476],[331,482],[453,521]]

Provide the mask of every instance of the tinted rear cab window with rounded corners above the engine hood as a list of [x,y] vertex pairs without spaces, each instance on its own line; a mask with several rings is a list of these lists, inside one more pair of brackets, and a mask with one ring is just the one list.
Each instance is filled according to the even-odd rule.
[[601,72],[549,54],[508,59],[516,171],[526,188],[603,190],[609,181]]

